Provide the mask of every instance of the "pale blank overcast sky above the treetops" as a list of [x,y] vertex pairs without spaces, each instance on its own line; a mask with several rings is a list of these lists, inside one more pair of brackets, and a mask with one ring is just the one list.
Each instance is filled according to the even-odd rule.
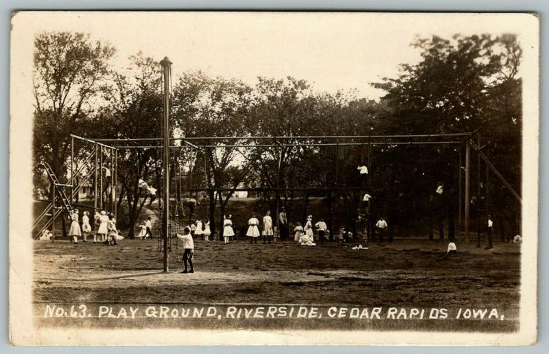
[[[202,70],[208,75],[255,84],[257,76],[305,79],[318,91],[358,90],[377,99],[371,87],[395,77],[398,65],[419,60],[414,38],[433,34],[517,31],[506,14],[360,14],[360,13],[215,13],[95,12],[54,13],[45,30],[89,32],[117,48],[115,66],[128,56],[174,62],[172,71]],[[520,38],[519,38],[520,40]]]

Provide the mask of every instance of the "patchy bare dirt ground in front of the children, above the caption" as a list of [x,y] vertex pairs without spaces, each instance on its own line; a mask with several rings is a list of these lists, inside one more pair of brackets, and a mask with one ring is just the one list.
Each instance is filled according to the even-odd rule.
[[[163,274],[156,239],[124,239],[112,247],[36,241],[34,301],[474,306],[517,315],[516,244],[496,243],[487,251],[474,242],[458,243],[457,255],[442,258],[446,243],[440,241],[395,239],[367,250],[352,250],[355,244],[259,242],[196,240],[196,273],[180,274],[172,253],[172,272]],[[516,323],[472,328],[512,330]]]

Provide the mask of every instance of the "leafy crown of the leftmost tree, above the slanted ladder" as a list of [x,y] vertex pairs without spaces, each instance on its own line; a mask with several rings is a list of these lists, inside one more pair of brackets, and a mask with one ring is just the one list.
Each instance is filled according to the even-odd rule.
[[44,32],[34,40],[34,172],[49,163],[67,172],[69,134],[78,134],[95,108],[115,49],[88,34]]

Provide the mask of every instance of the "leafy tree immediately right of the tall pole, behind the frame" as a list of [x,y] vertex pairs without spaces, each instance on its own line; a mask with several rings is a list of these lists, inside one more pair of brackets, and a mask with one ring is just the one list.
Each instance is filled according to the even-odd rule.
[[[176,129],[185,137],[234,137],[247,133],[246,117],[252,99],[251,88],[237,80],[207,78],[200,72],[185,73],[174,88],[173,110]],[[220,229],[223,215],[234,190],[250,171],[236,148],[238,141],[203,141],[200,155],[205,159],[209,220],[215,235],[215,204],[220,203]],[[229,147],[221,147],[229,146]],[[215,188],[229,188],[228,193],[214,193]]]

